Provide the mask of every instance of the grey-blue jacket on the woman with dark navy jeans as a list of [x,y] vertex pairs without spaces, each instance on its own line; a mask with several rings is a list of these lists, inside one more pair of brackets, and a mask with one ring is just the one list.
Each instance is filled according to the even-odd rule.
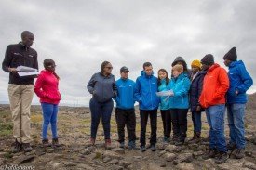
[[115,76],[113,74],[104,76],[101,72],[93,74],[88,82],[88,92],[92,94],[92,98],[101,103],[115,98],[117,94]]

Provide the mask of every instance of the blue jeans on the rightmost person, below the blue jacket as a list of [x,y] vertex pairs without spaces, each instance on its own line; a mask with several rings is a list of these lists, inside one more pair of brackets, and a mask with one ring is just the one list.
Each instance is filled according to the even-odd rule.
[[245,104],[228,104],[227,118],[229,125],[230,144],[236,144],[237,149],[246,147],[245,139]]

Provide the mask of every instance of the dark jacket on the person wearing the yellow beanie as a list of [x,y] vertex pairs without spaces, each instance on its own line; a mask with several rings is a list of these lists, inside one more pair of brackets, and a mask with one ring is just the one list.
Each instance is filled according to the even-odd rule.
[[190,108],[191,111],[196,111],[196,107],[200,106],[199,97],[201,95],[204,83],[204,77],[207,72],[200,71],[191,82],[190,86]]

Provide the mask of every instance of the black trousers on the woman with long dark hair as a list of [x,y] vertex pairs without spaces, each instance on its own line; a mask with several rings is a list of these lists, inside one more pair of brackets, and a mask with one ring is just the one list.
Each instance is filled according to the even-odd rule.
[[171,132],[171,115],[170,110],[160,110],[163,121],[164,136],[170,137]]

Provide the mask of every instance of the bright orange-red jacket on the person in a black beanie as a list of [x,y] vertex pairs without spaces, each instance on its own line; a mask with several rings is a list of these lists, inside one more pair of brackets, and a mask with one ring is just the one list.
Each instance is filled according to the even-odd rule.
[[227,72],[219,64],[213,64],[203,83],[203,90],[199,98],[200,105],[203,108],[218,104],[225,104],[225,94],[229,88],[229,79]]

